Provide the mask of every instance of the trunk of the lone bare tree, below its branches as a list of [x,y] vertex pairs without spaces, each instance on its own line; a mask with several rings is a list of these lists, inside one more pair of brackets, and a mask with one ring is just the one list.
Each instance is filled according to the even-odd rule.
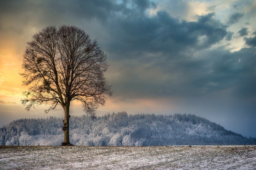
[[69,142],[69,106],[70,104],[67,104],[66,107],[64,108],[64,120],[63,120],[63,127],[62,127],[62,131],[64,132],[64,142],[62,143],[62,145],[72,145]]

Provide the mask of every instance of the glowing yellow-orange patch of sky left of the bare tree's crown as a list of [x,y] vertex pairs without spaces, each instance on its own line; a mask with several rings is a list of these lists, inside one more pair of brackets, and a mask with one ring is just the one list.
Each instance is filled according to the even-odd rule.
[[5,105],[22,106],[20,99],[24,98],[22,93],[27,89],[22,86],[23,77],[19,74],[23,72],[23,52],[26,49],[26,42],[30,41],[31,36],[39,28],[22,24],[17,27],[18,23],[11,22],[8,18],[4,19],[4,34],[0,39],[0,101]]

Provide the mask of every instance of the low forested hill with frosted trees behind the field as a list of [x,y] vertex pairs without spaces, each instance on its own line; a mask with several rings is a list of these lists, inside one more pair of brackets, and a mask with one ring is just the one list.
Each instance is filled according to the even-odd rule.
[[[60,145],[62,119],[20,119],[0,128],[0,145]],[[70,118],[70,142],[76,146],[255,145],[220,125],[191,114],[154,115],[126,112],[96,119]]]

